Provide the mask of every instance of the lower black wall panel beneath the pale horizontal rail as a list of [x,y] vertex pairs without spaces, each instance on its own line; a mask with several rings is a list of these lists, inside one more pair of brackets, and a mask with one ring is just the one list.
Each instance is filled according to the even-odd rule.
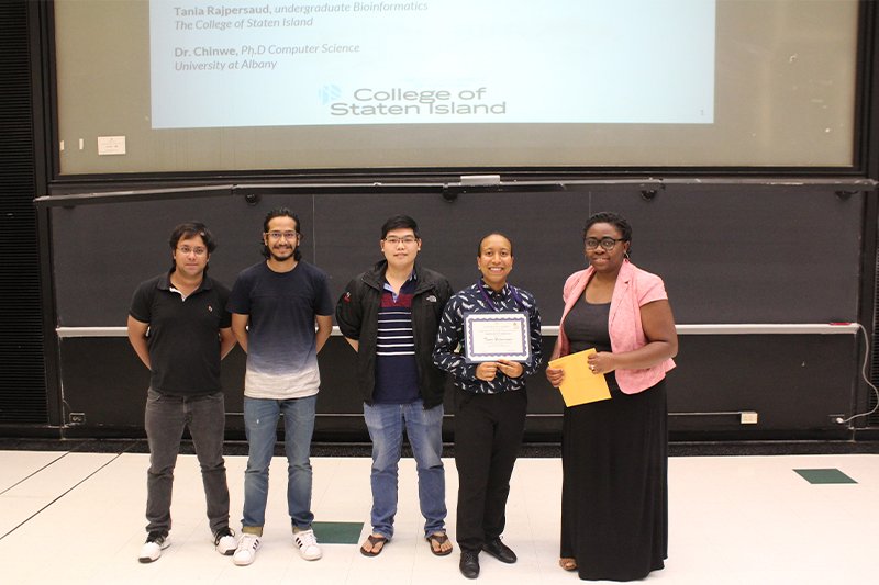
[[[544,341],[548,346],[554,337]],[[850,335],[693,335],[680,338],[678,368],[668,375],[669,429],[675,435],[739,439],[836,437],[845,425],[833,418],[853,407],[853,372],[859,357]],[[60,344],[68,419],[82,415],[79,432],[142,436],[149,375],[127,339],[73,338]],[[226,435],[244,438],[242,395],[245,357],[233,350],[223,361]],[[354,379],[354,352],[332,337],[320,355],[321,393],[316,440],[368,440]],[[543,373],[528,380],[527,438],[558,440],[563,402]],[[450,392],[446,415],[452,415]],[[741,410],[758,414],[742,425]],[[447,416],[448,418],[448,416]],[[450,420],[445,438],[452,439]]]

